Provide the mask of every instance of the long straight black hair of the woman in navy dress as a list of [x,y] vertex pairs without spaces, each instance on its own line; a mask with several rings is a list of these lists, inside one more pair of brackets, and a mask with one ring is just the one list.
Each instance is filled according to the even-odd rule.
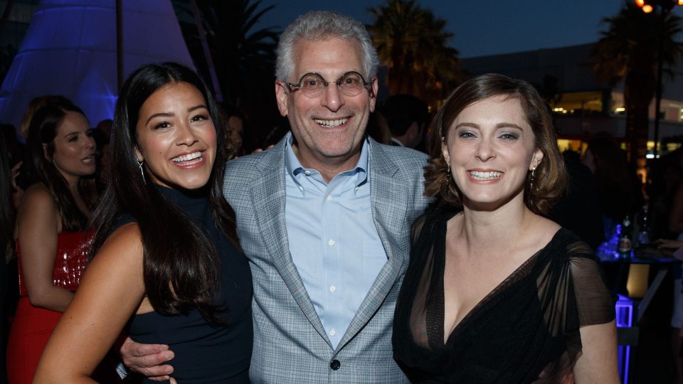
[[144,257],[144,289],[159,314],[186,314],[196,308],[213,324],[223,319],[216,311],[214,293],[220,292],[221,262],[206,233],[181,208],[162,196],[148,176],[143,176],[135,148],[137,121],[142,104],[157,90],[185,82],[196,87],[206,100],[216,127],[216,160],[208,180],[208,203],[213,220],[240,250],[235,230],[235,211],[223,196],[226,165],[223,124],[216,101],[203,80],[178,63],[147,64],[125,81],[116,102],[110,143],[112,178],[93,214],[97,228],[90,257],[115,229],[121,215],[137,219]]

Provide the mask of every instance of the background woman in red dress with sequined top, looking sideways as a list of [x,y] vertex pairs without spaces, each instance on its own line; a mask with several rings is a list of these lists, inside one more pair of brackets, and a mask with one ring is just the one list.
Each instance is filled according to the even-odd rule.
[[43,348],[73,299],[87,257],[85,225],[97,202],[95,142],[80,108],[41,107],[28,127],[28,180],[16,216],[19,299],[9,334],[9,383],[31,383]]

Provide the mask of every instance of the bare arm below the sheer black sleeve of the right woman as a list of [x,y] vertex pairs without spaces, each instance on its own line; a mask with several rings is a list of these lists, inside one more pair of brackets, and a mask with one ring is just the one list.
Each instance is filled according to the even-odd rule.
[[581,356],[574,364],[576,384],[619,384],[616,322],[581,327]]

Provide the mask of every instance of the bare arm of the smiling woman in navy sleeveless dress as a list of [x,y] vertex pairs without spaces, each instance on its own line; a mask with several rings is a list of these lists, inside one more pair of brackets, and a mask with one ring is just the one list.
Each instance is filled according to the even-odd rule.
[[92,370],[142,302],[142,266],[137,224],[115,230],[86,268],[43,351],[33,383],[93,383]]

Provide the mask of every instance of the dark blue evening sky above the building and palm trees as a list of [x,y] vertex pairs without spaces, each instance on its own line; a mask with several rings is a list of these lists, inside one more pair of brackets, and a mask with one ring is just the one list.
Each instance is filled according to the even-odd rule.
[[[632,1],[632,0],[630,0]],[[287,24],[307,11],[339,11],[370,23],[369,7],[383,0],[263,0],[260,9],[275,4],[256,28]],[[573,46],[598,41],[600,20],[618,13],[621,0],[421,0],[423,7],[445,18],[455,33],[450,46],[461,58]],[[683,6],[674,12],[683,16]]]

